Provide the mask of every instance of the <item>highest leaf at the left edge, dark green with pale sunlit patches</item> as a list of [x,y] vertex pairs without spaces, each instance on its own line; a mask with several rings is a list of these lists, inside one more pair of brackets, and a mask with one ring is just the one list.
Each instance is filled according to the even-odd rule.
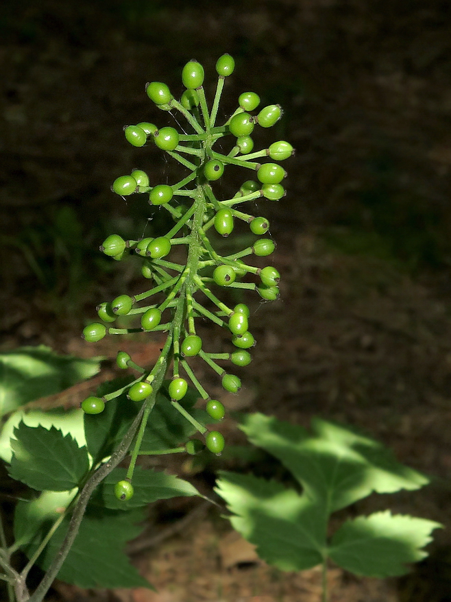
[[94,376],[99,359],[62,356],[45,346],[0,353],[0,417]]

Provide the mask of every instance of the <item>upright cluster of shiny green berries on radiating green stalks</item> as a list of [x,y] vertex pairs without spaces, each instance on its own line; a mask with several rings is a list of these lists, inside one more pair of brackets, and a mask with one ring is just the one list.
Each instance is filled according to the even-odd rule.
[[[137,370],[138,378],[117,392],[108,393],[106,398],[86,398],[82,408],[86,414],[94,415],[85,420],[96,420],[95,414],[103,410],[106,401],[125,393],[130,403],[143,402],[151,411],[158,400],[158,391],[166,387],[164,395],[171,405],[202,435],[202,441],[194,438],[186,443],[184,450],[188,453],[204,448],[203,441],[212,453],[219,454],[224,447],[223,435],[207,431],[206,425],[197,422],[184,407],[190,386],[204,400],[207,416],[221,420],[225,414],[221,401],[211,399],[207,385],[204,388],[196,376],[199,362],[204,362],[221,380],[223,389],[236,393],[241,388],[241,378],[230,374],[223,363],[240,368],[248,365],[252,359],[249,350],[255,345],[249,332],[249,328],[252,330],[249,308],[244,303],[229,306],[221,300],[223,287],[239,289],[236,292],[240,295],[255,291],[265,301],[279,295],[277,269],[262,265],[259,259],[271,255],[276,248],[269,235],[269,221],[253,214],[258,199],[276,202],[284,197],[282,180],[287,172],[278,162],[294,151],[283,140],[255,150],[259,128],[271,128],[282,116],[278,104],[261,108],[255,92],[241,93],[236,110],[223,123],[217,123],[223,88],[234,67],[228,54],[217,60],[217,85],[211,103],[204,91],[204,68],[196,60],[188,61],[182,69],[185,89],[180,100],[163,82],[146,84],[147,96],[154,103],[155,123],[141,121],[127,125],[125,139],[143,153],[143,158],[146,149],[149,146],[155,149],[156,145],[168,160],[180,165],[182,173],[178,181],[177,176],[168,181],[165,175],[164,180],[152,181],[147,174],[153,170],[147,160],[147,166],[117,177],[112,191],[119,197],[145,195],[149,219],[157,211],[167,212],[173,226],[167,226],[167,231],[154,237],[141,235],[126,240],[114,233],[103,241],[100,250],[106,256],[116,261],[130,257],[129,261],[138,263],[143,290],[134,291],[133,296],[118,291],[116,298],[99,304],[98,321],[83,330],[86,341],[93,342],[107,334],[150,333],[155,337],[158,333],[158,337],[164,337],[160,357],[151,368],[139,366],[130,354],[119,351],[118,368]],[[181,118],[186,125],[179,127]],[[230,186],[218,184],[229,167],[233,168],[231,173],[236,174],[239,167],[243,173],[242,183],[232,195],[228,193]],[[218,235],[228,237],[227,247],[216,248]],[[254,241],[249,243],[249,236],[255,237]],[[204,322],[226,330],[229,341],[226,348],[215,349],[212,342],[197,335],[197,326]],[[167,385],[162,384],[164,378],[168,379]],[[145,414],[143,420],[147,418]],[[140,441],[136,437],[132,444],[134,458],[141,449]],[[127,480],[119,481],[114,488],[120,500],[126,501],[133,494],[133,466]]]

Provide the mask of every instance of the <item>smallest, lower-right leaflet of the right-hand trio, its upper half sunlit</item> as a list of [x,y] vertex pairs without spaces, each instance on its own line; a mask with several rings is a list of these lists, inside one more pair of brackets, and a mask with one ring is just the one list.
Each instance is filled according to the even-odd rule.
[[332,537],[330,558],[355,575],[395,577],[409,572],[406,564],[427,556],[422,550],[438,522],[390,511],[347,520]]

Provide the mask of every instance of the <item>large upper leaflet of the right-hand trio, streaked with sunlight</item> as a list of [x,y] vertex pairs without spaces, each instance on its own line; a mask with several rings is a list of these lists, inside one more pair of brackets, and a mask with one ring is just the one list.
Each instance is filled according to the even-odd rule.
[[313,435],[302,426],[254,413],[243,418],[240,428],[250,442],[293,473],[312,501],[328,500],[328,512],[371,492],[416,490],[428,483],[423,474],[403,466],[369,437],[319,418],[311,426]]

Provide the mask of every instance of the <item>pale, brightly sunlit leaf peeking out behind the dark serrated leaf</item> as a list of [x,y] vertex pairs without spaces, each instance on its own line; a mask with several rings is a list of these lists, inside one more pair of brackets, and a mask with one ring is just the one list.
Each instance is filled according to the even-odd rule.
[[5,462],[10,462],[12,457],[11,437],[14,429],[20,422],[24,422],[27,426],[44,426],[45,429],[50,429],[55,426],[56,429],[62,432],[63,435],[71,434],[77,441],[79,447],[86,445],[84,437],[83,417],[85,413],[82,409],[65,410],[62,408],[54,408],[50,411],[42,410],[17,410],[11,414],[8,420],[3,425],[0,433],[0,457]]

